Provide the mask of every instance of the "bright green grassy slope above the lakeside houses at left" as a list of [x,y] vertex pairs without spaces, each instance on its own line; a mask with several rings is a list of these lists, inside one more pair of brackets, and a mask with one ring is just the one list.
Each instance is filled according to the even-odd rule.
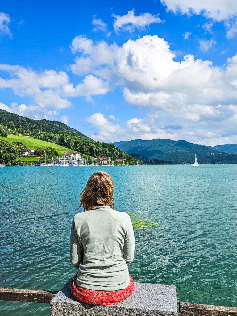
[[65,151],[72,151],[71,149],[68,149],[63,146],[60,146],[54,143],[45,142],[43,140],[27,137],[27,136],[8,135],[8,137],[0,136],[0,139],[7,143],[21,142],[27,148],[37,149],[37,148],[53,147],[57,150],[59,155],[62,155]]

